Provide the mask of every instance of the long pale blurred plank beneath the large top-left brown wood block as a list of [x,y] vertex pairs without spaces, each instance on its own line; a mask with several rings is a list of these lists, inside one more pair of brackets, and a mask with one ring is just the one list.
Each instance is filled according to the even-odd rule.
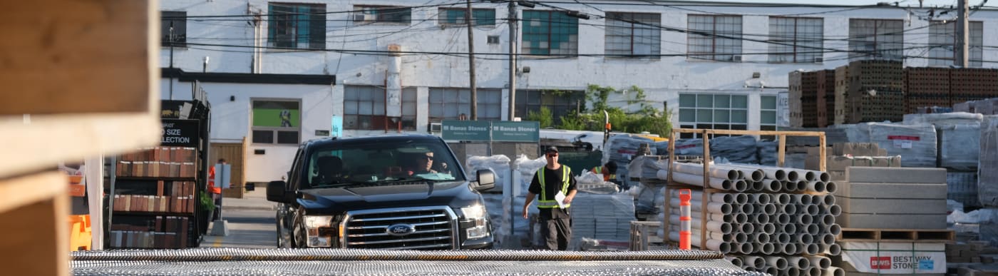
[[163,131],[154,113],[39,115],[26,121],[0,116],[0,178],[158,145]]

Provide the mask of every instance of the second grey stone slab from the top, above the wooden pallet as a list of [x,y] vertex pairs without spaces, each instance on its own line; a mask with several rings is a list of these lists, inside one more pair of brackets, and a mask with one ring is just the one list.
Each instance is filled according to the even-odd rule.
[[946,184],[836,182],[835,196],[850,198],[946,199]]

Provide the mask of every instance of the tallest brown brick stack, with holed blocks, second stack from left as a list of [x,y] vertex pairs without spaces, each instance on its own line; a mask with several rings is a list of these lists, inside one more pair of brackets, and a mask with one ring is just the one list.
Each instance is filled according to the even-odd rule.
[[[836,69],[838,70],[838,69]],[[836,74],[836,78],[840,77]],[[901,62],[860,60],[850,62],[844,82],[845,123],[901,121],[904,116],[904,70]],[[836,95],[839,96],[839,95]]]

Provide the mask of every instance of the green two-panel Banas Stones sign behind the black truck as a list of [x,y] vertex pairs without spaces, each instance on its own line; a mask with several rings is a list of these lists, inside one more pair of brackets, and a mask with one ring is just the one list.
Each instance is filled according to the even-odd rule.
[[540,141],[538,122],[484,122],[445,120],[440,124],[441,136],[450,141]]

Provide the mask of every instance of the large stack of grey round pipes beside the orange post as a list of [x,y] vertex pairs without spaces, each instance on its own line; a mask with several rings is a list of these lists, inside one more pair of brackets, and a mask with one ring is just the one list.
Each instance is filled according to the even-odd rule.
[[[736,258],[732,263],[748,271],[843,274],[841,269],[831,267],[827,257],[841,252],[835,244],[835,236],[841,232],[835,216],[841,213],[841,207],[832,195],[837,185],[828,181],[827,173],[718,164],[711,165],[710,180],[705,183],[702,164],[674,163],[672,168],[674,182],[714,190],[709,196],[696,189],[693,192],[694,246],[705,241],[706,249]],[[668,173],[660,172],[659,176],[666,179]],[[676,189],[669,191],[671,211],[665,219],[671,225],[668,238],[678,241],[680,201]],[[706,229],[706,234],[702,235],[701,229]]]

